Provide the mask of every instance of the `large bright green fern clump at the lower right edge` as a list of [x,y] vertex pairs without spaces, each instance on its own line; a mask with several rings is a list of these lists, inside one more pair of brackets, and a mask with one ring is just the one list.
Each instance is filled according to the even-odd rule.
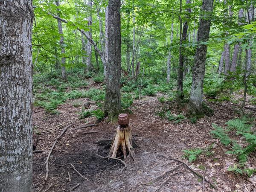
[[[232,119],[226,122],[227,128],[219,127],[216,124],[212,124],[214,128],[211,133],[218,138],[222,144],[230,145],[231,150],[227,151],[227,154],[233,154],[236,156],[237,165],[229,167],[229,171],[233,171],[239,174],[252,175],[255,173],[254,169],[245,168],[245,164],[248,159],[248,155],[256,151],[256,134],[251,131],[253,119],[244,116],[242,119]],[[236,131],[237,135],[242,135],[247,145],[241,146],[236,140],[230,138],[233,131]]]

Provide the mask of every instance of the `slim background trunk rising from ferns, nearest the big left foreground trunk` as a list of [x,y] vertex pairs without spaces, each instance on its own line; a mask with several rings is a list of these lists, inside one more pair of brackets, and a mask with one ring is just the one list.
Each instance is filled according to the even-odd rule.
[[[60,6],[60,2],[59,0],[55,1],[56,6]],[[57,16],[60,16],[60,10],[57,9]],[[58,32],[59,34],[61,34],[61,39],[60,39],[60,46],[61,46],[61,54],[65,55],[65,47],[64,47],[64,36],[63,36],[63,31],[62,31],[62,23],[61,20],[58,20]],[[67,76],[66,76],[66,58],[65,56],[61,58],[61,76],[62,79],[64,79],[65,81],[67,80]]]

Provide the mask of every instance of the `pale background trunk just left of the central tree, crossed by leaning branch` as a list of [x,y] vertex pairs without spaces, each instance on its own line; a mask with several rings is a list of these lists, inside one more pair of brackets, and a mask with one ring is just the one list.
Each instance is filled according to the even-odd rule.
[[[93,24],[93,15],[92,15],[93,3],[91,0],[88,0],[87,6],[89,7],[89,16],[87,18],[89,31],[87,31],[86,33],[91,39],[92,38],[92,30],[91,30],[90,26]],[[86,58],[85,73],[92,71],[92,67],[93,67],[92,66],[92,45],[91,45],[90,40],[87,41],[86,52],[87,52],[87,58]]]

